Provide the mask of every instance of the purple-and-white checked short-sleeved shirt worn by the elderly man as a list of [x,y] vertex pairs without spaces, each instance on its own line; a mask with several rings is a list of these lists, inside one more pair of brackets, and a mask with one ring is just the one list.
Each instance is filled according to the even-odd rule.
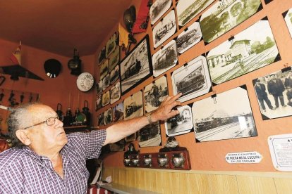
[[68,134],[61,150],[63,179],[56,174],[48,157],[37,155],[27,146],[0,154],[0,193],[86,193],[89,172],[86,161],[97,158],[106,130]]

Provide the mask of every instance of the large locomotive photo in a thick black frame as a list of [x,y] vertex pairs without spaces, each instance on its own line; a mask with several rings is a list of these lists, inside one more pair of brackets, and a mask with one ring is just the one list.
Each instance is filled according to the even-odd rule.
[[127,93],[151,75],[149,37],[146,35],[120,63],[121,92]]

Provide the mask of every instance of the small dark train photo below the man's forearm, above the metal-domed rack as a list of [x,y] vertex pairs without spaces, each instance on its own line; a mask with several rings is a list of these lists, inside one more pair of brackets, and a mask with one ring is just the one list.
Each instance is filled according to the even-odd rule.
[[152,147],[162,145],[160,123],[148,124],[138,131],[139,147]]

